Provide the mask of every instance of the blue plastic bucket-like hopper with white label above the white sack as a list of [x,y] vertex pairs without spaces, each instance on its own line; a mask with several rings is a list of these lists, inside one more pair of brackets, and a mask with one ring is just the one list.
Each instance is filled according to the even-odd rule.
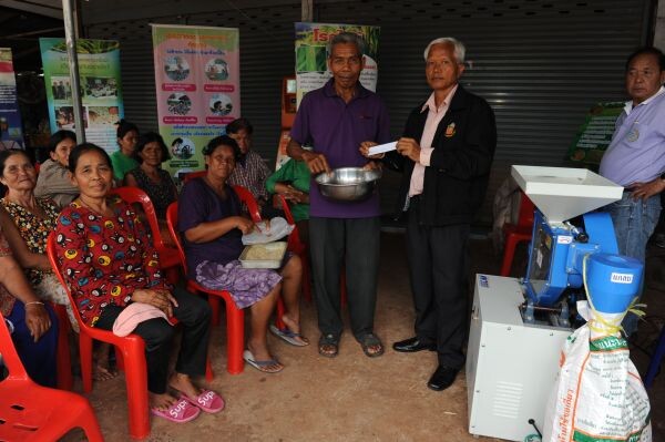
[[622,313],[640,292],[644,265],[635,258],[596,254],[586,264],[586,287],[593,306],[604,313]]

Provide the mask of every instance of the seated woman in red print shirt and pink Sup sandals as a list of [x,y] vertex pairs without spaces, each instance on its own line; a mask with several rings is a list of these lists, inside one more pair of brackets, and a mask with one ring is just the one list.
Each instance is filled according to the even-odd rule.
[[[58,218],[55,253],[81,318],[91,327],[112,330],[130,305],[177,318],[184,330],[171,377],[174,328],[163,317],[151,317],[133,329],[145,340],[151,411],[174,422],[196,418],[200,409],[221,411],[222,398],[202,391],[192,380],[205,373],[208,305],[163,279],[157,253],[145,240],[131,206],[119,197],[108,198],[113,168],[103,148],[90,143],[76,146],[70,154],[70,172],[80,195]],[[180,399],[167,386],[178,391]]]

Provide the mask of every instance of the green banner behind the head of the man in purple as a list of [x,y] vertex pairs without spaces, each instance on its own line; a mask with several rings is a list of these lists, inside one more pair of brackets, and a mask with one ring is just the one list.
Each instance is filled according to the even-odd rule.
[[332,75],[328,70],[328,41],[341,32],[352,32],[365,41],[365,69],[360,83],[376,91],[379,75],[379,35],[381,28],[360,24],[296,24],[296,80],[298,104],[307,92],[321,88]]

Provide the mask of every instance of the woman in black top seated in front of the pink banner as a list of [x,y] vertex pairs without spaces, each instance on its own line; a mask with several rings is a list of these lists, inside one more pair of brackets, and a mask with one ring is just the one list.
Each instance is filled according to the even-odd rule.
[[162,238],[166,240],[171,238],[166,226],[166,208],[177,201],[177,188],[168,172],[162,168],[162,163],[171,160],[162,135],[155,132],[141,135],[134,158],[139,167],[125,174],[125,185],[139,187],[147,194],[157,214]]

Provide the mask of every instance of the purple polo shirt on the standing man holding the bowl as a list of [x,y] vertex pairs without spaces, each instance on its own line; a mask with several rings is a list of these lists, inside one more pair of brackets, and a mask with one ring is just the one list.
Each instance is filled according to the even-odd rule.
[[[362,167],[367,158],[360,155],[360,143],[390,141],[388,110],[377,94],[358,84],[356,95],[345,103],[335,92],[330,79],[326,85],[307,93],[300,102],[291,138],[314,146],[323,153],[331,168]],[[379,216],[379,195],[361,202],[336,202],[318,192],[311,178],[309,215],[325,218],[367,218]]]

